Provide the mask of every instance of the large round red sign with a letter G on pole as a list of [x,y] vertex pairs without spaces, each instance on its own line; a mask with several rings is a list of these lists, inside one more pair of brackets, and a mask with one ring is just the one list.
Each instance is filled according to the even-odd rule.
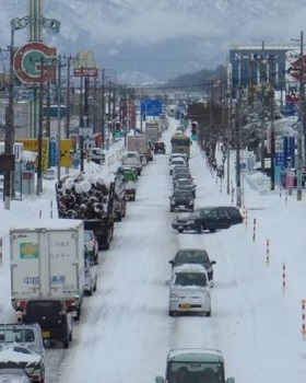
[[[14,55],[13,67],[22,82],[40,83],[56,79],[57,50],[39,42],[28,43]],[[43,63],[43,68],[42,68]]]

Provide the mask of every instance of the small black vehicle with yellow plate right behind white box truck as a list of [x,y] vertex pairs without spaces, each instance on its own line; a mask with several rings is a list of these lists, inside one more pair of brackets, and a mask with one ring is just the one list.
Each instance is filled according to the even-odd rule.
[[38,323],[46,346],[52,340],[59,340],[63,348],[72,340],[72,316],[61,300],[30,300],[23,315],[24,323]]

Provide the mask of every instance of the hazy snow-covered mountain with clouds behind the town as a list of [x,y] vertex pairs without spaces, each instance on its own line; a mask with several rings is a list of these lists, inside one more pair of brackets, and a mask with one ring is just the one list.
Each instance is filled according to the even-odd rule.
[[[37,0],[38,1],[38,0]],[[156,80],[213,69],[239,43],[289,43],[304,27],[304,0],[42,0],[43,14],[61,22],[45,42],[61,53],[92,50],[99,68],[121,80],[140,72]],[[1,1],[0,46],[10,20],[28,14],[30,0]],[[24,31],[15,36],[27,39]],[[125,73],[125,74],[123,74]],[[122,79],[123,77],[123,79]]]

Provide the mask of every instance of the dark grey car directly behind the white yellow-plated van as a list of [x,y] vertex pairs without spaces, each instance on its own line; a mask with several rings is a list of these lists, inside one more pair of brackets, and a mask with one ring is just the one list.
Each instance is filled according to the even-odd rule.
[[169,260],[172,269],[185,264],[202,265],[207,269],[210,286],[213,286],[213,265],[215,260],[211,260],[204,248],[180,248],[173,259]]

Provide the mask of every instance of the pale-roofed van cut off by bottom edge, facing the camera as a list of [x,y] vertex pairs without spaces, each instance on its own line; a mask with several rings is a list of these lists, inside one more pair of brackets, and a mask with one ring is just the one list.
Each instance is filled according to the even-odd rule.
[[184,371],[188,383],[235,383],[234,378],[225,379],[224,359],[221,351],[208,348],[172,349],[167,356],[165,378],[156,376],[156,383],[181,381]]

